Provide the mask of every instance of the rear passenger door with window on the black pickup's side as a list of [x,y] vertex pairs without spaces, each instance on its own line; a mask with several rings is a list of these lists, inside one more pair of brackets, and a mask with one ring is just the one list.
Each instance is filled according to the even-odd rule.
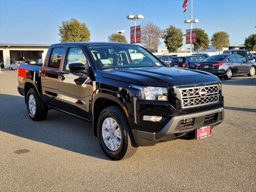
[[64,46],[53,46],[41,71],[43,98],[48,105],[55,108],[59,108],[58,76],[64,50]]

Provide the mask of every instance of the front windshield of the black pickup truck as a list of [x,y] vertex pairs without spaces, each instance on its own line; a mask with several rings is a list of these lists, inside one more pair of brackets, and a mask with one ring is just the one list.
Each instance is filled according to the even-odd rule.
[[152,54],[134,45],[92,45],[89,46],[94,63],[100,70],[110,68],[163,67]]

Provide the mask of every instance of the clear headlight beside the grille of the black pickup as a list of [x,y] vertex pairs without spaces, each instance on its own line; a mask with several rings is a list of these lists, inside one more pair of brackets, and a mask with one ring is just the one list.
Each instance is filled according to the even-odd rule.
[[167,101],[167,88],[132,86],[140,90],[141,99]]

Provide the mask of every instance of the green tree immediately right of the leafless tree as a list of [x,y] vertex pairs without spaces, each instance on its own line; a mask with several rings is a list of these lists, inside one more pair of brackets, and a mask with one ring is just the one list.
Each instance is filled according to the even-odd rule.
[[163,39],[169,52],[177,52],[178,48],[182,46],[182,36],[182,30],[172,25],[164,30]]

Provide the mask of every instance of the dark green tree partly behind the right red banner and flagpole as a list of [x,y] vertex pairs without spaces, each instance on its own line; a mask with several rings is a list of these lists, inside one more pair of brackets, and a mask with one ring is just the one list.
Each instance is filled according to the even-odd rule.
[[197,28],[196,29],[196,44],[194,44],[194,51],[199,52],[199,49],[202,47],[202,49],[205,51],[210,45],[210,39],[208,37],[208,34],[204,32],[204,30]]

